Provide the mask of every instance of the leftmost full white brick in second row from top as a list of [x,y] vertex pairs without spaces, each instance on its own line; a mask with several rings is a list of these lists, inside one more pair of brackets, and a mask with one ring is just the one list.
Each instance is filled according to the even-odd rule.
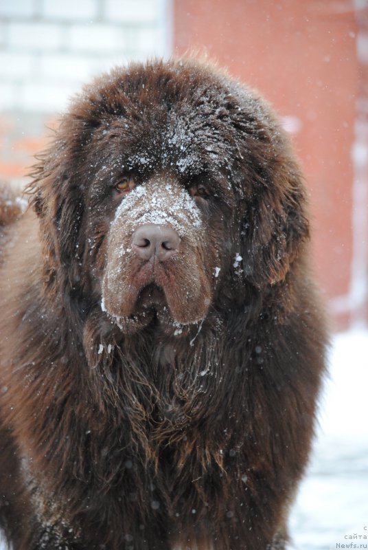
[[62,45],[62,27],[49,23],[10,23],[9,45],[14,49],[56,50]]

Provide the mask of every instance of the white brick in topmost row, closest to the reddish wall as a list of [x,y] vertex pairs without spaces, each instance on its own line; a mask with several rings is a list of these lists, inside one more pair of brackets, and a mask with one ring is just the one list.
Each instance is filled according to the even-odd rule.
[[154,23],[159,17],[160,0],[106,0],[104,15],[110,21]]

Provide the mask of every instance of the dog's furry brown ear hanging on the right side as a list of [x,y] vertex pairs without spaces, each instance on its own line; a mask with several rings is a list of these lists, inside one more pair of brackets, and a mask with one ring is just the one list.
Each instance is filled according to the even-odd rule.
[[282,153],[273,152],[272,162],[253,172],[253,191],[242,212],[244,276],[259,288],[283,281],[309,239],[303,177],[284,145]]

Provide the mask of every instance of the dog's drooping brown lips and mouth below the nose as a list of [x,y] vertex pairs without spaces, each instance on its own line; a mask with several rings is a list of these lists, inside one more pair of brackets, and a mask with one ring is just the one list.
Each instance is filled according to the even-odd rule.
[[155,317],[160,324],[171,322],[176,327],[196,324],[206,316],[211,278],[200,268],[203,259],[196,248],[183,248],[180,256],[166,262],[143,262],[136,255],[111,256],[102,296],[105,311],[119,326],[129,322],[143,327]]

